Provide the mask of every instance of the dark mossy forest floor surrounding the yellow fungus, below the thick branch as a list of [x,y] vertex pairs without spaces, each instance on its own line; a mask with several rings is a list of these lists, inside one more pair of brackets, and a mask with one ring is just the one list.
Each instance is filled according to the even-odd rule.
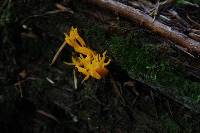
[[[200,131],[200,62],[173,43],[78,0],[0,4],[1,133]],[[107,50],[102,80],[82,83],[63,63],[69,47],[50,65],[71,26],[90,48]]]

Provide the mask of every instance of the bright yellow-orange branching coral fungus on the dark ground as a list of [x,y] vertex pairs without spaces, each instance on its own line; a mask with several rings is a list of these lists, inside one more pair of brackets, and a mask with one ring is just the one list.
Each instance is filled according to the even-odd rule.
[[84,80],[87,80],[90,76],[95,79],[101,79],[108,73],[106,66],[111,60],[108,59],[106,62],[106,51],[101,56],[101,54],[97,54],[95,51],[86,47],[84,40],[78,34],[77,28],[73,27],[70,29],[69,35],[65,34],[65,42],[54,56],[52,64],[66,44],[71,46],[75,52],[79,53],[79,56],[72,56],[72,63],[65,64],[74,65],[80,73],[85,75]]

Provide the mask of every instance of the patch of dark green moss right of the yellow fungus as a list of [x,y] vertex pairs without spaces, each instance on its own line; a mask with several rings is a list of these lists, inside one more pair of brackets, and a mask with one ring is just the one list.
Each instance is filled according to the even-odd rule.
[[178,95],[197,100],[200,84],[185,78],[183,70],[170,65],[173,62],[169,60],[168,52],[173,51],[166,48],[163,52],[162,44],[142,42],[142,38],[144,36],[135,33],[125,38],[114,36],[107,41],[107,45],[112,55],[132,77],[175,89],[172,91]]

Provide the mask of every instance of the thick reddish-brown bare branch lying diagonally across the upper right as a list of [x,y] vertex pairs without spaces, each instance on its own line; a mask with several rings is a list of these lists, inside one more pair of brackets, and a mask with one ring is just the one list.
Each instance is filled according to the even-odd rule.
[[173,30],[171,27],[157,21],[147,14],[142,13],[140,10],[133,7],[124,5],[120,2],[113,0],[83,0],[85,2],[92,3],[101,8],[108,9],[114,13],[119,14],[133,22],[138,23],[140,26],[144,26],[154,33],[169,39],[170,41],[182,46],[192,54],[200,55],[200,42],[189,38],[187,35]]

